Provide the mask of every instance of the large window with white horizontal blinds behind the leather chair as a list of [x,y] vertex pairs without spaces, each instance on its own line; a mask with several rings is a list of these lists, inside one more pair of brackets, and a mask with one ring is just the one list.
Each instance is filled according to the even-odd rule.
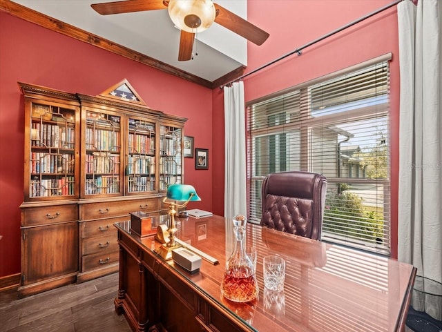
[[247,106],[251,222],[260,222],[269,173],[322,173],[328,179],[323,240],[390,254],[388,59]]

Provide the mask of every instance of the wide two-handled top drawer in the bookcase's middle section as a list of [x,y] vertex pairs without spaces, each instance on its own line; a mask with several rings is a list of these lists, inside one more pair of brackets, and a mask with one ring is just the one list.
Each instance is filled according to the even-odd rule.
[[117,215],[128,215],[134,211],[157,211],[158,199],[133,199],[131,201],[86,203],[81,205],[81,219],[102,219]]

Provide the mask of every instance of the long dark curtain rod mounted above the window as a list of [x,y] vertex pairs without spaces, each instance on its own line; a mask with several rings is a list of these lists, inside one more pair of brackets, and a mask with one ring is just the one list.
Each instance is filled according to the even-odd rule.
[[255,72],[258,72],[258,71],[260,71],[260,70],[262,70],[264,68],[267,68],[268,66],[271,66],[272,64],[274,64],[274,63],[276,63],[276,62],[278,62],[278,61],[280,61],[282,59],[285,59],[286,57],[289,57],[290,55],[294,55],[295,53],[298,53],[298,55],[302,55],[302,50],[304,48],[312,46],[315,43],[318,43],[318,41],[322,41],[323,39],[326,39],[326,38],[328,38],[328,37],[330,37],[332,35],[335,35],[336,33],[340,32],[342,30],[345,30],[345,29],[347,29],[347,28],[349,28],[351,26],[354,26],[356,23],[364,21],[365,19],[368,19],[369,17],[372,17],[372,16],[378,14],[379,12],[383,12],[384,10],[387,10],[388,8],[397,5],[401,1],[403,1],[403,0],[393,1],[392,3],[389,3],[387,6],[379,8],[378,10],[375,10],[374,12],[370,12],[369,14],[366,14],[365,16],[363,16],[363,17],[361,17],[359,19],[356,19],[355,21],[347,23],[345,26],[341,26],[340,28],[338,28],[336,30],[333,30],[332,32],[327,33],[327,35],[323,35],[322,37],[319,37],[318,39],[315,39],[314,41],[310,41],[309,43],[306,43],[305,45],[301,46],[300,48],[296,48],[296,49],[292,50],[291,52],[288,52],[287,54],[282,55],[281,57],[278,57],[277,59],[274,59],[273,61],[268,62],[265,65],[262,65],[262,66],[260,66],[260,67],[258,67],[256,69],[253,69],[251,72],[247,72],[247,74],[244,74],[244,75],[238,77],[237,79],[233,79],[233,81],[230,81],[227,84],[223,84],[222,86],[220,86],[220,89],[224,88],[224,86],[228,86],[229,84],[232,84],[234,81],[240,81],[244,77],[247,77],[249,75],[254,74]]

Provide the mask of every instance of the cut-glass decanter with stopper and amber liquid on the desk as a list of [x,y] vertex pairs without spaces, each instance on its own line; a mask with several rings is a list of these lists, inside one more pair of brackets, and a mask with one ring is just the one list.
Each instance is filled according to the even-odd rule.
[[258,297],[258,283],[253,262],[244,250],[245,217],[237,215],[233,218],[233,225],[236,245],[226,263],[221,293],[233,302],[249,302]]

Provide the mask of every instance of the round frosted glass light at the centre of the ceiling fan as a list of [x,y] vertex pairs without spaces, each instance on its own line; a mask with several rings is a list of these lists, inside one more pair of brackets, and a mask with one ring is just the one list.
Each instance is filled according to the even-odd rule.
[[168,10],[175,26],[186,32],[202,32],[215,21],[212,0],[170,0]]

